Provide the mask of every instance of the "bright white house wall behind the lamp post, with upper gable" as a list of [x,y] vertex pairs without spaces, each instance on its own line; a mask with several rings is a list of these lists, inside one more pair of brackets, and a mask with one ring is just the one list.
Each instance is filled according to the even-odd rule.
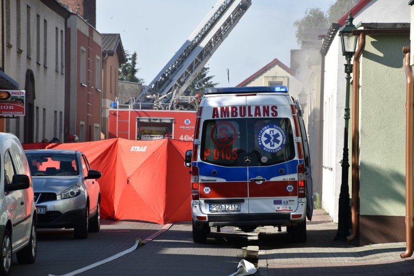
[[[410,9],[406,0],[372,0],[362,10],[352,15],[354,25],[362,23],[410,22]],[[343,27],[340,28],[340,31]],[[341,187],[344,127],[345,127],[345,56],[342,55],[340,37],[335,36],[325,59],[324,89],[324,161],[323,207],[334,222],[338,222],[338,203]],[[352,74],[351,74],[352,76]],[[352,81],[352,79],[351,79]],[[351,106],[351,104],[350,104]],[[352,116],[352,110],[351,110]],[[349,134],[351,133],[349,120]],[[351,187],[351,136],[349,148],[349,189]]]

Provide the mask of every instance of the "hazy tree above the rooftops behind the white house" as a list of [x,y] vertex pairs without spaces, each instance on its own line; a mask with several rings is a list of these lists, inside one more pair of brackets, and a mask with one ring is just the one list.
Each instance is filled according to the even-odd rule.
[[294,21],[293,26],[297,27],[296,41],[302,46],[303,32],[306,28],[327,29],[332,23],[338,22],[345,16],[360,0],[336,0],[330,5],[327,15],[321,9],[307,9],[305,16]]

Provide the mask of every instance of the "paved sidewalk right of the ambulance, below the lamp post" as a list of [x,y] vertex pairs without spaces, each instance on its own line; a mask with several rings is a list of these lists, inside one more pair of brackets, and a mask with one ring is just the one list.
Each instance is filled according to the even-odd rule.
[[286,232],[260,228],[257,276],[414,275],[414,257],[401,259],[399,255],[405,243],[358,246],[333,241],[337,224],[321,210],[313,212],[307,231],[306,243],[292,244]]

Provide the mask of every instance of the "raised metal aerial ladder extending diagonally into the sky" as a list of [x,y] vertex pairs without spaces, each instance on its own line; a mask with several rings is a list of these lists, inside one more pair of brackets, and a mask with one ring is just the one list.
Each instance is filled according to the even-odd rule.
[[155,79],[134,99],[134,106],[140,109],[141,105],[150,103],[152,109],[188,108],[190,97],[181,95],[251,4],[251,0],[219,0]]

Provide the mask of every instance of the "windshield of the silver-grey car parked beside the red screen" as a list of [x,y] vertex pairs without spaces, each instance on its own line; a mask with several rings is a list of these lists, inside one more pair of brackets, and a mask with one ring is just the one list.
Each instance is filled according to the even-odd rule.
[[56,153],[26,154],[32,176],[79,175],[76,155]]

